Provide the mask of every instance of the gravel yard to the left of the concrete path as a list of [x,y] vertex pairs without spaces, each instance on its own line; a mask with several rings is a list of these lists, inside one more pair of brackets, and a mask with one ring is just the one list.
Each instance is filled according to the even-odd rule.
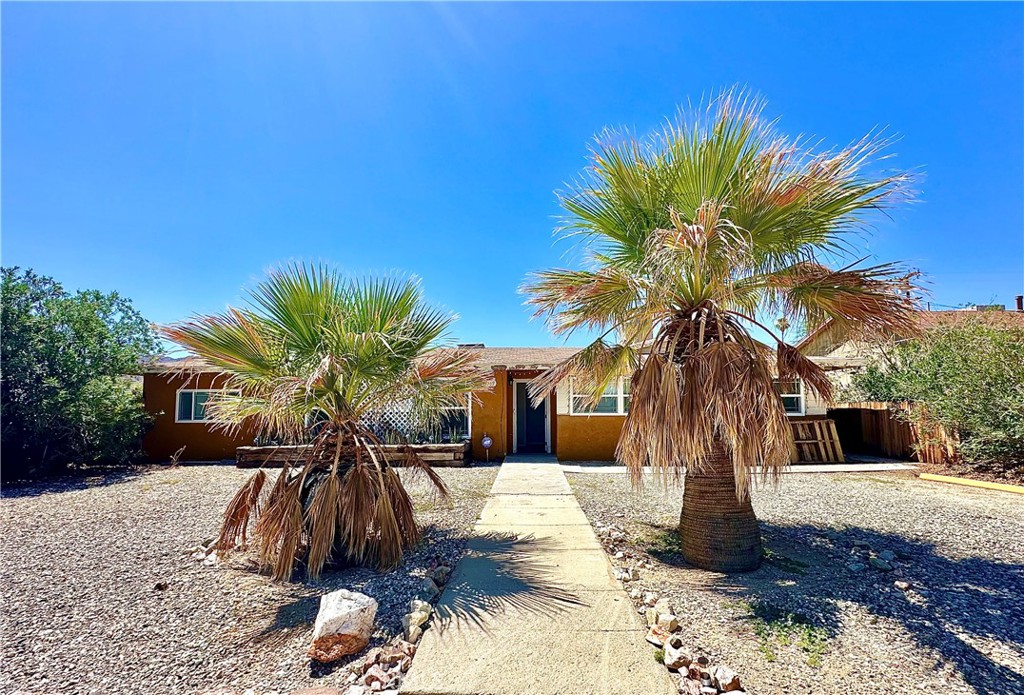
[[462,554],[497,470],[438,469],[451,504],[411,483],[426,540],[396,570],[292,583],[272,582],[244,557],[205,566],[187,552],[216,535],[251,471],[154,468],[5,488],[0,692],[341,687],[345,662],[311,669],[305,656],[319,596],[345,588],[374,597],[371,646],[398,634],[429,562]]

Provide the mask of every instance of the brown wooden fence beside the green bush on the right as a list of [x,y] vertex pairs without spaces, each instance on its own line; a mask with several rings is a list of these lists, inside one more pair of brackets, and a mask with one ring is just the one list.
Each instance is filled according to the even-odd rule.
[[[907,419],[909,403],[856,401],[840,403],[836,410],[856,410],[859,416],[862,445],[893,459],[908,459],[925,464],[944,464],[959,457],[958,439],[941,425],[921,425]],[[836,412],[835,417],[840,415]]]

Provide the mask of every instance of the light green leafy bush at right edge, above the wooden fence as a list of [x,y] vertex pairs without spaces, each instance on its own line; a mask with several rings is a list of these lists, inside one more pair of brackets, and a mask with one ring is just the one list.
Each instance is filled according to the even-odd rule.
[[916,404],[906,417],[955,432],[968,463],[1024,465],[1024,329],[965,315],[884,351],[848,395]]

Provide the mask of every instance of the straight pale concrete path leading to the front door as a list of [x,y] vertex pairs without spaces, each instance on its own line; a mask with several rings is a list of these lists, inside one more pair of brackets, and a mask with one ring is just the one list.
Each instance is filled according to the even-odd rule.
[[507,458],[409,695],[676,693],[554,458]]

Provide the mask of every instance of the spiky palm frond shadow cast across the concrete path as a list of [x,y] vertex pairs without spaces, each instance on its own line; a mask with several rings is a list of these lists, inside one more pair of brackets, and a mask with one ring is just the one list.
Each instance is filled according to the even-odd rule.
[[436,621],[468,621],[486,629],[488,617],[517,610],[554,618],[579,597],[558,587],[551,568],[539,558],[550,544],[531,535],[488,533],[471,538],[437,605]]

